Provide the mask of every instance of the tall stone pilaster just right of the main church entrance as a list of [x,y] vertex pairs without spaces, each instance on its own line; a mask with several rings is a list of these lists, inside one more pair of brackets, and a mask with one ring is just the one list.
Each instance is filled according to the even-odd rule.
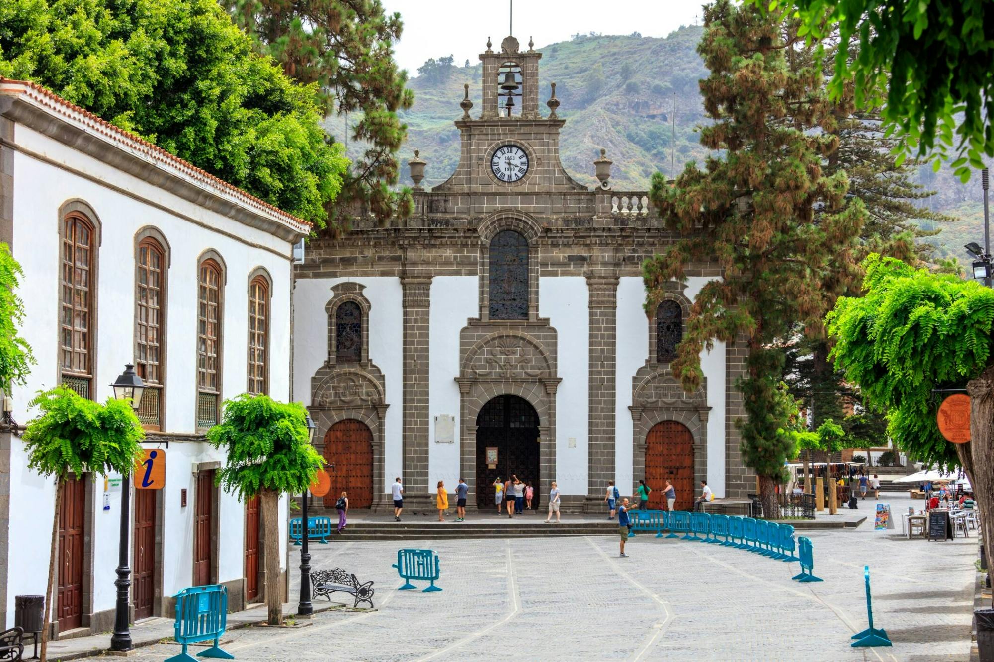
[[587,276],[589,293],[589,418],[587,507],[597,509],[614,480],[617,276]]

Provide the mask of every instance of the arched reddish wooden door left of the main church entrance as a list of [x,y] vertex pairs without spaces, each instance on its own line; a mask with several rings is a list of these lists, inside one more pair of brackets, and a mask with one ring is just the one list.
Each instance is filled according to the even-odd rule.
[[373,504],[373,432],[360,420],[339,420],[324,435],[324,459],[334,464],[329,471],[331,489],[325,508],[334,508],[342,490],[349,493],[349,508]]

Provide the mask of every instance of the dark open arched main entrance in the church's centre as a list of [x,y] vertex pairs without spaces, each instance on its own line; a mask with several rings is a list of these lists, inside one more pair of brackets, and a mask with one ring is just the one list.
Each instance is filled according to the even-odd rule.
[[[535,487],[532,507],[538,508],[542,493],[540,481],[539,414],[524,398],[497,396],[476,416],[476,503],[480,508],[495,508],[492,486],[499,477],[507,481],[512,475]],[[491,453],[488,457],[487,453]],[[497,461],[489,462],[496,452]]]

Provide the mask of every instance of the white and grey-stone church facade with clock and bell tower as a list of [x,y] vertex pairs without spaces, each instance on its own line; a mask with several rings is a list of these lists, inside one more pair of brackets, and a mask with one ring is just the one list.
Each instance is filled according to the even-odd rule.
[[642,260],[678,236],[644,192],[612,189],[603,151],[599,189],[566,172],[555,84],[540,109],[541,58],[514,37],[488,41],[483,107],[467,85],[452,176],[416,186],[430,164],[415,153],[413,215],[361,216],[295,269],[293,398],[335,465],[329,495],[349,490],[353,506],[392,505],[397,477],[415,507],[461,477],[470,507],[494,508],[493,482],[515,474],[540,508],[556,481],[574,511],[603,508],[611,480],[630,495],[647,479],[658,506],[668,478],[678,507],[701,480],[719,497],[752,484],[735,425],[745,345],[705,352],[693,394],[669,367],[691,301],[721,270],[691,265],[646,313]]

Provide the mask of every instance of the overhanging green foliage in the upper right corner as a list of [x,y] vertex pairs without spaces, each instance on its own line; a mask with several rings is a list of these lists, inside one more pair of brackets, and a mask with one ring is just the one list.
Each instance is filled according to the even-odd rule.
[[[765,5],[767,0],[748,0]],[[837,29],[832,91],[855,83],[862,108],[883,104],[883,117],[902,140],[902,156],[955,156],[962,181],[994,156],[994,4],[988,0],[771,0],[796,10],[815,39]],[[827,20],[826,20],[827,17]],[[859,43],[850,59],[848,46]],[[885,102],[886,101],[886,102]],[[933,166],[939,167],[936,158]]]

